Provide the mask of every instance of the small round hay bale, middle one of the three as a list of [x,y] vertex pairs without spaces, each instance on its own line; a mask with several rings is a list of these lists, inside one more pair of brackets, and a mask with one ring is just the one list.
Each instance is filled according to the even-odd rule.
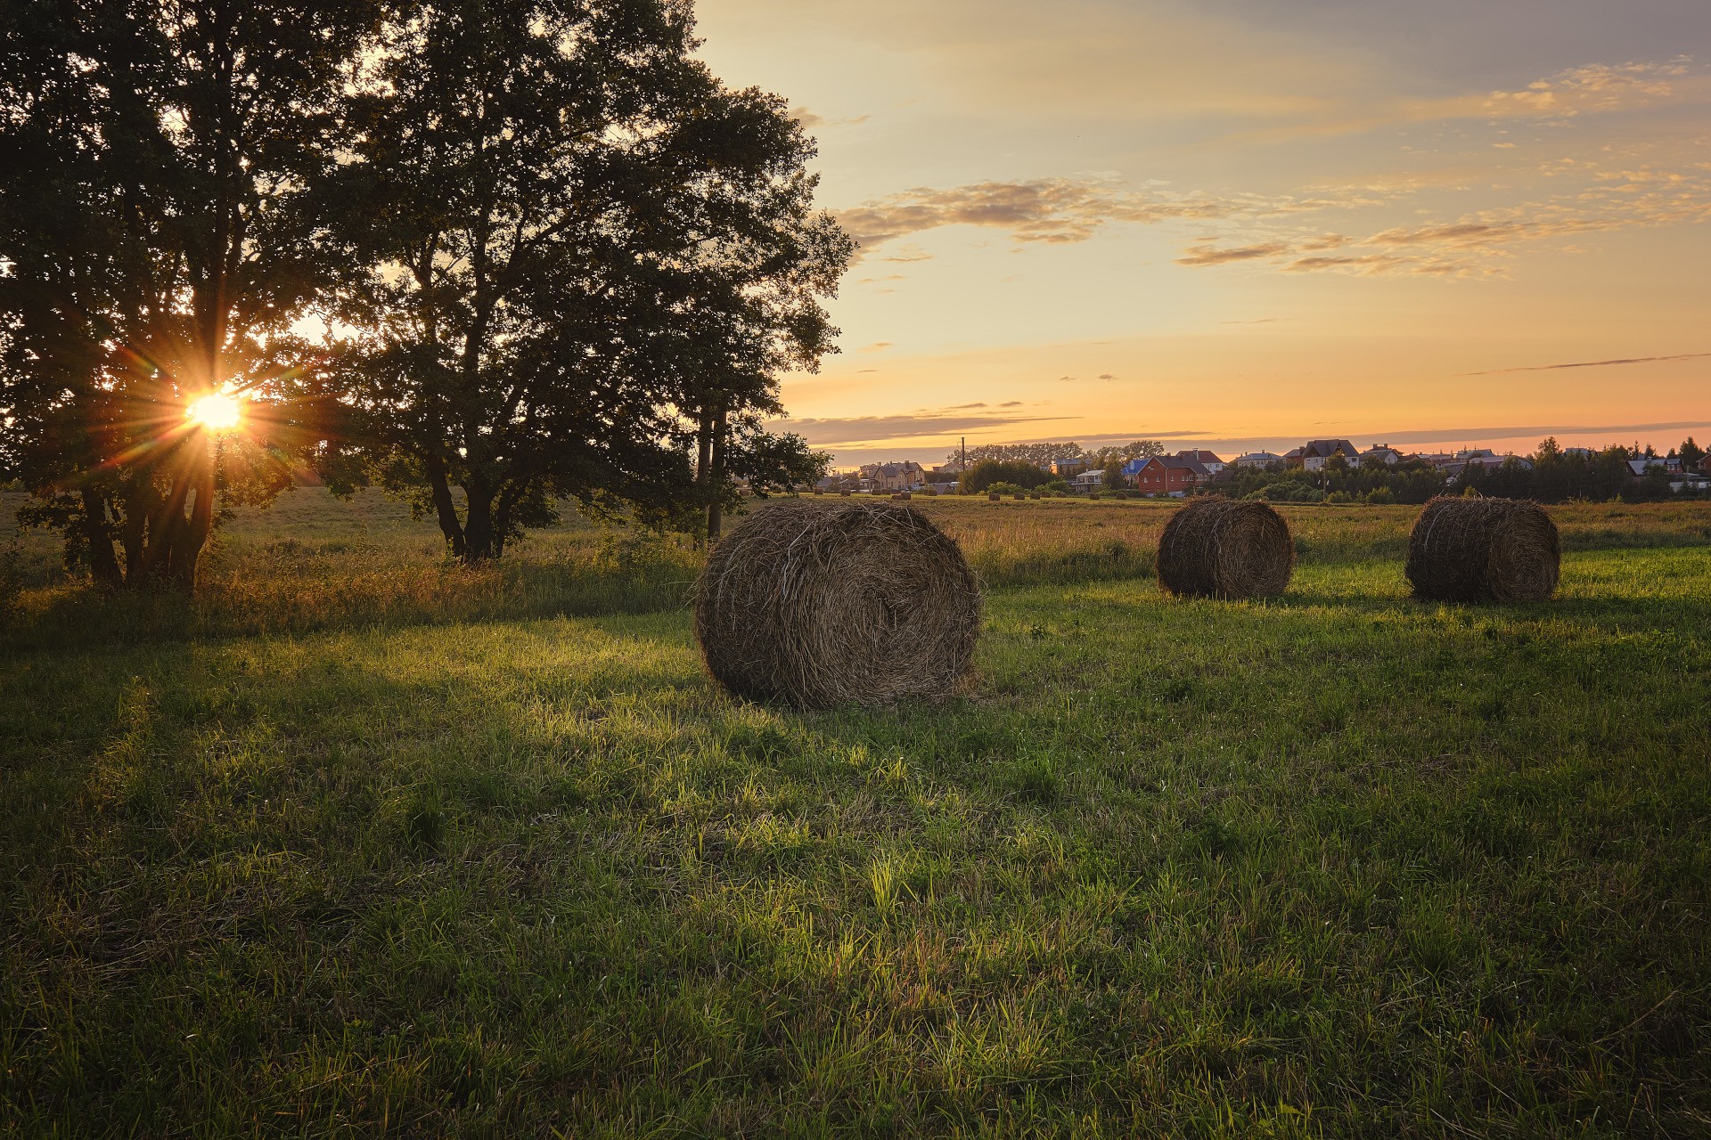
[[1295,571],[1288,523],[1264,502],[1194,499],[1165,523],[1158,585],[1201,598],[1283,593]]

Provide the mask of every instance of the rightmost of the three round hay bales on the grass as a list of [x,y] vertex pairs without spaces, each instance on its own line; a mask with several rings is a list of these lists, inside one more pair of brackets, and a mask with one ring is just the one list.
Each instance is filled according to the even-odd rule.
[[1560,573],[1557,525],[1536,502],[1439,496],[1408,535],[1408,583],[1430,602],[1543,602]]

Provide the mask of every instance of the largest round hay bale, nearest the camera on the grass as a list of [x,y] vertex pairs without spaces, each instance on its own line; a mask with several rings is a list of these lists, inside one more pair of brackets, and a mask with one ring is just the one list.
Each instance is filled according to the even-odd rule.
[[707,561],[695,638],[751,701],[797,708],[950,694],[980,632],[980,586],[919,509],[857,499],[755,511]]

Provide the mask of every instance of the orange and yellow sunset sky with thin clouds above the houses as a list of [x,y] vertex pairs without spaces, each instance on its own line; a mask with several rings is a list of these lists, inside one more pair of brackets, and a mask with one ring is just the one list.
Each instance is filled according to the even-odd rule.
[[1711,434],[1706,0],[700,0],[861,243],[837,467]]

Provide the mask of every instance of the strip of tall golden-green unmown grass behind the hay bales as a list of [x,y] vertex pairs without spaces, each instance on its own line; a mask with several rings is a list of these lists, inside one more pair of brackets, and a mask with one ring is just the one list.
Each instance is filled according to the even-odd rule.
[[[0,526],[21,496],[0,496]],[[989,588],[1153,576],[1174,501],[917,499]],[[753,509],[767,509],[755,504]],[[1412,506],[1283,504],[1302,564],[1400,561]],[[1569,550],[1711,544],[1711,502],[1552,508]],[[0,537],[0,636],[15,648],[231,638],[686,607],[702,552],[688,540],[566,513],[500,562],[445,557],[433,525],[378,492],[303,487],[217,533],[193,598],[106,596],[58,564],[41,532]]]

